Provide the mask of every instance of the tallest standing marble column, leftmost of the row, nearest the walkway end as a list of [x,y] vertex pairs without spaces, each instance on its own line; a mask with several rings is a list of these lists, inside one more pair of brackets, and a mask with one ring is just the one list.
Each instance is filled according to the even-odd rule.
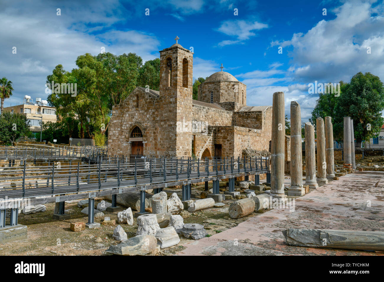
[[273,93],[271,140],[271,192],[273,198],[285,199],[284,194],[284,92]]

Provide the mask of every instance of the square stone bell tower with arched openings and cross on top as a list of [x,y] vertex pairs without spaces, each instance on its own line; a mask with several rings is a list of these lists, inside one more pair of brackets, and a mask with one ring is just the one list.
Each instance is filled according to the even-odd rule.
[[192,66],[193,53],[176,43],[160,52],[159,109],[163,133],[169,136],[165,147],[176,157],[192,154]]

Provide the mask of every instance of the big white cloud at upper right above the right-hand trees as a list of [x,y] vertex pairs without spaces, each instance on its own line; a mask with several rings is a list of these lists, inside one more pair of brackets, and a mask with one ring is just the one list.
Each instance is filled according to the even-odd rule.
[[[346,2],[333,12],[333,20],[321,20],[307,33],[271,46],[292,48],[292,78],[302,82],[349,81],[361,72],[384,79],[383,5],[372,8],[359,0]],[[374,15],[377,13],[377,15]],[[367,54],[371,47],[371,54]]]

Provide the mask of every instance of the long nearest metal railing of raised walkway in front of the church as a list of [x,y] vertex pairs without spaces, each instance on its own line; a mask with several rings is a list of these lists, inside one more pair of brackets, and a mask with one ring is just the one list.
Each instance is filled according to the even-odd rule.
[[[269,158],[244,157],[221,160],[191,158],[143,158],[129,160],[104,158],[98,163],[69,160],[45,162],[38,166],[5,167],[0,171],[0,198],[31,198],[69,193],[112,190],[201,180],[212,176],[269,173]],[[170,185],[171,186],[171,185]]]

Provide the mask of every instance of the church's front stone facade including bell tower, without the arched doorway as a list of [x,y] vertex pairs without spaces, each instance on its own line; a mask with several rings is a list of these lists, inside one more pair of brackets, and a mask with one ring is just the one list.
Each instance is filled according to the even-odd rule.
[[160,51],[161,95],[152,97],[137,87],[122,104],[113,107],[108,154],[131,154],[129,137],[138,126],[143,133],[144,155],[191,156],[192,132],[180,131],[178,125],[193,119],[192,64],[192,53],[180,45]]

